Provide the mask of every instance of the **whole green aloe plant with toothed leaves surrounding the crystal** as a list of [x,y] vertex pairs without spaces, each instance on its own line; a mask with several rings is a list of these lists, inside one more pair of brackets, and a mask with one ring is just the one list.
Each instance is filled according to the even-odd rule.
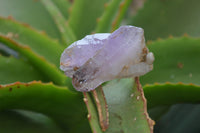
[[[146,0],[133,14],[134,3],[0,0],[0,132],[199,132],[199,1]],[[141,85],[116,79],[77,92],[59,69],[61,53],[125,24],[144,29],[153,71]],[[109,119],[105,130],[99,109]]]

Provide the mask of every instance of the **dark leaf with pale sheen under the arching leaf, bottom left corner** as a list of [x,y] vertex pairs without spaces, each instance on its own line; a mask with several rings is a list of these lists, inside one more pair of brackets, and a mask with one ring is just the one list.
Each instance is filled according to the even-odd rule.
[[1,111],[0,117],[0,130],[3,133],[64,133],[54,121],[39,113]]

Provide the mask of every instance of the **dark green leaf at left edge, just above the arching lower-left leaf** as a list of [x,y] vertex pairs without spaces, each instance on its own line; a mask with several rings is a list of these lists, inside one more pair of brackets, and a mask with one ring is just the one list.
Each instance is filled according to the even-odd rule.
[[30,63],[14,57],[0,55],[0,70],[0,84],[13,83],[16,80],[21,82],[47,80]]

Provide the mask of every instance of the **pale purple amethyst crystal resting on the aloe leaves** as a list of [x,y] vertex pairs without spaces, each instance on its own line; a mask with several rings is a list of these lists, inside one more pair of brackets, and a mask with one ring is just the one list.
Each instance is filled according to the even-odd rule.
[[136,77],[153,69],[154,56],[145,46],[144,31],[121,26],[112,34],[87,35],[61,55],[60,68],[78,91],[91,91],[105,81]]

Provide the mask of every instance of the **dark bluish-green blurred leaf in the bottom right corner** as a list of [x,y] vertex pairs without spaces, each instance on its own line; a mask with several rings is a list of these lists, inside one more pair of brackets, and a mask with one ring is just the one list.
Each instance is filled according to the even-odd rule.
[[199,104],[174,105],[156,122],[155,133],[199,133],[199,111]]

